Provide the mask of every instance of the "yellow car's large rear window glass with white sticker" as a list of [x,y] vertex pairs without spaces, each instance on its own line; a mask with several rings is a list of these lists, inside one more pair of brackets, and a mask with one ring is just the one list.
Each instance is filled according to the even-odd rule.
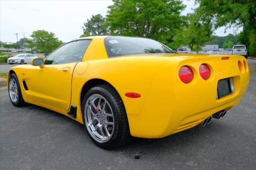
[[112,36],[104,40],[108,57],[146,53],[175,53],[166,45],[148,38]]

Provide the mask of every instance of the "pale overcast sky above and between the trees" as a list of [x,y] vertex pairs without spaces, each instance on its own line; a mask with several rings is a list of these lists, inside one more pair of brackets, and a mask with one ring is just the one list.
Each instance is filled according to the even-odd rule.
[[[194,0],[183,0],[187,5],[182,15],[191,13],[196,8]],[[35,30],[54,32],[63,42],[78,38],[82,33],[83,23],[95,14],[106,15],[107,7],[112,0],[1,0],[0,1],[0,40],[3,42],[16,42],[18,38],[29,38]],[[239,33],[242,29],[238,29]],[[232,29],[218,28],[215,34],[226,36],[232,34]]]

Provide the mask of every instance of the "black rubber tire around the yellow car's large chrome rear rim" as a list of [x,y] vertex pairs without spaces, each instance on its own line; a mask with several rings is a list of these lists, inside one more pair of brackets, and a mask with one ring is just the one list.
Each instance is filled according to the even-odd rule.
[[[92,138],[91,134],[88,132],[85,124],[86,121],[84,114],[86,101],[88,97],[93,94],[102,95],[108,101],[113,111],[115,123],[114,132],[107,142],[98,142],[94,140],[94,138]],[[122,102],[120,95],[111,85],[97,85],[88,90],[88,92],[84,96],[82,103],[82,116],[84,121],[84,127],[86,129],[86,132],[88,133],[88,136],[90,136],[91,140],[100,148],[113,149],[132,140],[124,103]]]

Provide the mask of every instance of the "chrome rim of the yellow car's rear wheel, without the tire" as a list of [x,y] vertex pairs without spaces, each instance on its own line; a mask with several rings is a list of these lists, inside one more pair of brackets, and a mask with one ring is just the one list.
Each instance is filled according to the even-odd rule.
[[84,106],[85,125],[94,140],[103,143],[114,132],[114,114],[108,101],[99,94],[88,97]]

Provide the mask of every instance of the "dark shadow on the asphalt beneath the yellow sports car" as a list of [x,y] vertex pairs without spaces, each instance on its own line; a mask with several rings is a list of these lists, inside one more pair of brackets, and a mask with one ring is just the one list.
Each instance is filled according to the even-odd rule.
[[[90,141],[90,138],[84,129],[84,125],[78,123],[77,121],[70,119],[69,117],[62,115],[60,113],[56,113],[54,111],[51,111],[49,109],[39,107],[36,105],[30,105],[28,104],[25,106],[25,108],[28,107],[29,109],[34,109],[41,114],[48,113],[49,117],[56,118],[54,120],[57,120],[58,123],[68,123],[72,124],[72,127],[74,127],[73,130],[76,131],[76,133],[85,135],[84,142]],[[125,144],[123,146],[120,146],[115,150],[115,152],[119,151],[126,151],[126,150],[134,150],[137,152],[139,149],[139,152],[144,152],[143,149],[148,150],[148,152],[156,152],[159,150],[160,146],[168,146],[166,149],[170,150],[170,148],[179,148],[179,147],[193,147],[195,143],[200,142],[200,140],[209,140],[211,135],[215,134],[216,132],[221,132],[222,128],[228,128],[228,125],[221,123],[218,120],[213,120],[209,125],[206,127],[202,127],[201,124],[197,125],[194,128],[190,128],[188,130],[172,134],[170,136],[166,136],[164,138],[156,138],[156,139],[146,139],[146,138],[133,138],[131,142],[128,144]],[[232,128],[232,127],[230,127]],[[90,141],[92,142],[92,141]],[[92,142],[93,143],[93,142]],[[215,143],[215,142],[213,142]],[[217,144],[217,143],[216,143]],[[95,145],[95,147],[97,147]],[[145,154],[144,152],[143,154]]]

